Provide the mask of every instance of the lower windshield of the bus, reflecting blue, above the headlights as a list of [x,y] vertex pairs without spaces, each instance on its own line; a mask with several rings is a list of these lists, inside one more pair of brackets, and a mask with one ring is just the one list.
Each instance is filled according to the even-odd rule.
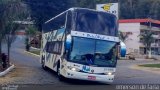
[[73,37],[69,60],[85,65],[115,67],[116,50],[116,42]]

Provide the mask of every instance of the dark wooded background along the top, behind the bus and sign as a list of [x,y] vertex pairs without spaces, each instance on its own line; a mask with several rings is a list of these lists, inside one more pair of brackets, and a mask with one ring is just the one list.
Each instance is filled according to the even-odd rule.
[[152,18],[160,20],[160,0],[24,0],[38,30],[42,24],[70,7],[95,9],[96,4],[119,2],[120,19]]

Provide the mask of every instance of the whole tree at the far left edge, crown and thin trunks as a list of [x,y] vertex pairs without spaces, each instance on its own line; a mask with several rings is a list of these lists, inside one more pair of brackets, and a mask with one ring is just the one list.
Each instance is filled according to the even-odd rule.
[[2,41],[6,39],[8,60],[11,43],[15,38],[15,32],[18,28],[18,24],[15,21],[22,20],[24,14],[24,4],[21,0],[0,0],[0,53],[2,52]]

